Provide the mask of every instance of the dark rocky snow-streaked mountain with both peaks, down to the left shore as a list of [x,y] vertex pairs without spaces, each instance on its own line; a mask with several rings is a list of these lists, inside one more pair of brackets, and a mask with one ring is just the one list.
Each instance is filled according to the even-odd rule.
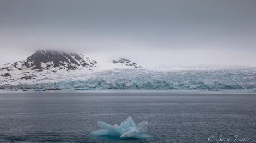
[[58,73],[60,75],[88,74],[105,70],[142,68],[128,59],[115,60],[119,63],[112,61],[98,63],[79,53],[38,50],[26,60],[4,64],[0,67],[0,86],[62,79],[61,76],[56,76]]

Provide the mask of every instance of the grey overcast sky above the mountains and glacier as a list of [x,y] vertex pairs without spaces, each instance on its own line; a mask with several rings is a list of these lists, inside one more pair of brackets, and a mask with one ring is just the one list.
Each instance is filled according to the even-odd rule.
[[256,66],[255,7],[255,0],[0,0],[0,63],[54,49],[144,67]]

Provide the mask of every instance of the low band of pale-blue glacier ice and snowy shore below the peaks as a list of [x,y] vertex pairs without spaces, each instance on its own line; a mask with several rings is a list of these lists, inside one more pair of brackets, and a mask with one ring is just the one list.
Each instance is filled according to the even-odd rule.
[[[3,73],[0,88],[19,89],[256,89],[256,68],[116,69],[93,73]],[[8,75],[8,76],[6,76]],[[25,78],[26,77],[26,78]]]

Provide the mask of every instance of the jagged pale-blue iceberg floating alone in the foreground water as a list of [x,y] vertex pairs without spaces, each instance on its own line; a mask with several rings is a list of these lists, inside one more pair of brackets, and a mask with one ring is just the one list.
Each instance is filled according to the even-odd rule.
[[[148,130],[148,121],[143,121],[137,126],[132,118],[129,116],[126,121],[121,122],[120,126],[115,124],[114,126],[109,125],[105,122],[98,121],[97,124],[100,127],[106,129],[100,129],[98,131],[91,132],[90,135],[93,136],[117,136],[120,138],[127,138],[127,137],[136,137],[137,135],[144,134]],[[147,136],[145,136],[147,137]]]

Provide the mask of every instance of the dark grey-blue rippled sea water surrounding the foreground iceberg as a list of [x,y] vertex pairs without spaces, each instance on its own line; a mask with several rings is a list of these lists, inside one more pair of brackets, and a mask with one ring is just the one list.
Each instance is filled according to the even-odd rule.
[[[152,137],[90,136],[128,116]],[[256,142],[256,91],[0,90],[0,142]]]

